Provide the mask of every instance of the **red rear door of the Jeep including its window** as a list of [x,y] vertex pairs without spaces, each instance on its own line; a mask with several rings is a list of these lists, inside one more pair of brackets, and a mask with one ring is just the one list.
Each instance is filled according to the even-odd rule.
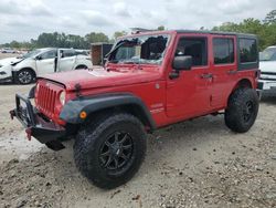
[[212,96],[211,106],[226,105],[237,75],[236,37],[212,35]]

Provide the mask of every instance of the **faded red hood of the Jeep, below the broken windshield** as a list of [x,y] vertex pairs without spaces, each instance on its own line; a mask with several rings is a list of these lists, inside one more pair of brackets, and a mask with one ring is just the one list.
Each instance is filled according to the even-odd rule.
[[76,84],[81,84],[82,89],[118,86],[155,81],[160,75],[159,66],[151,66],[142,70],[120,67],[119,70],[112,70],[109,72],[103,67],[94,67],[93,70],[47,74],[42,77],[62,83],[67,90],[74,90]]

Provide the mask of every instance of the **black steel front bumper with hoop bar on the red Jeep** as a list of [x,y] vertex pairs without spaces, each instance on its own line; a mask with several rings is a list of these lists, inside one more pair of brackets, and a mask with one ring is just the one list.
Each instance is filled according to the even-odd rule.
[[11,118],[17,117],[25,127],[26,136],[29,139],[33,136],[40,143],[45,144],[53,150],[64,148],[60,142],[65,136],[65,128],[46,119],[32,106],[29,98],[17,94],[17,107],[10,111]]

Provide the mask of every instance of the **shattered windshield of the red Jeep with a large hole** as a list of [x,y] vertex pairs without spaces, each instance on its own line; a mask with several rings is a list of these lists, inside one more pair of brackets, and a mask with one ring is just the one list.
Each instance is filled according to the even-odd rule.
[[112,63],[161,64],[168,43],[168,34],[123,39],[115,44],[108,60]]

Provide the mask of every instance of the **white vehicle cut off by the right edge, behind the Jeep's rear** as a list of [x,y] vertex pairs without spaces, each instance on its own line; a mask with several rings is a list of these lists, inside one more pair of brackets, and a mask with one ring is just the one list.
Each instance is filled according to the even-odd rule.
[[276,95],[276,45],[259,53],[259,70],[258,89],[264,94]]

